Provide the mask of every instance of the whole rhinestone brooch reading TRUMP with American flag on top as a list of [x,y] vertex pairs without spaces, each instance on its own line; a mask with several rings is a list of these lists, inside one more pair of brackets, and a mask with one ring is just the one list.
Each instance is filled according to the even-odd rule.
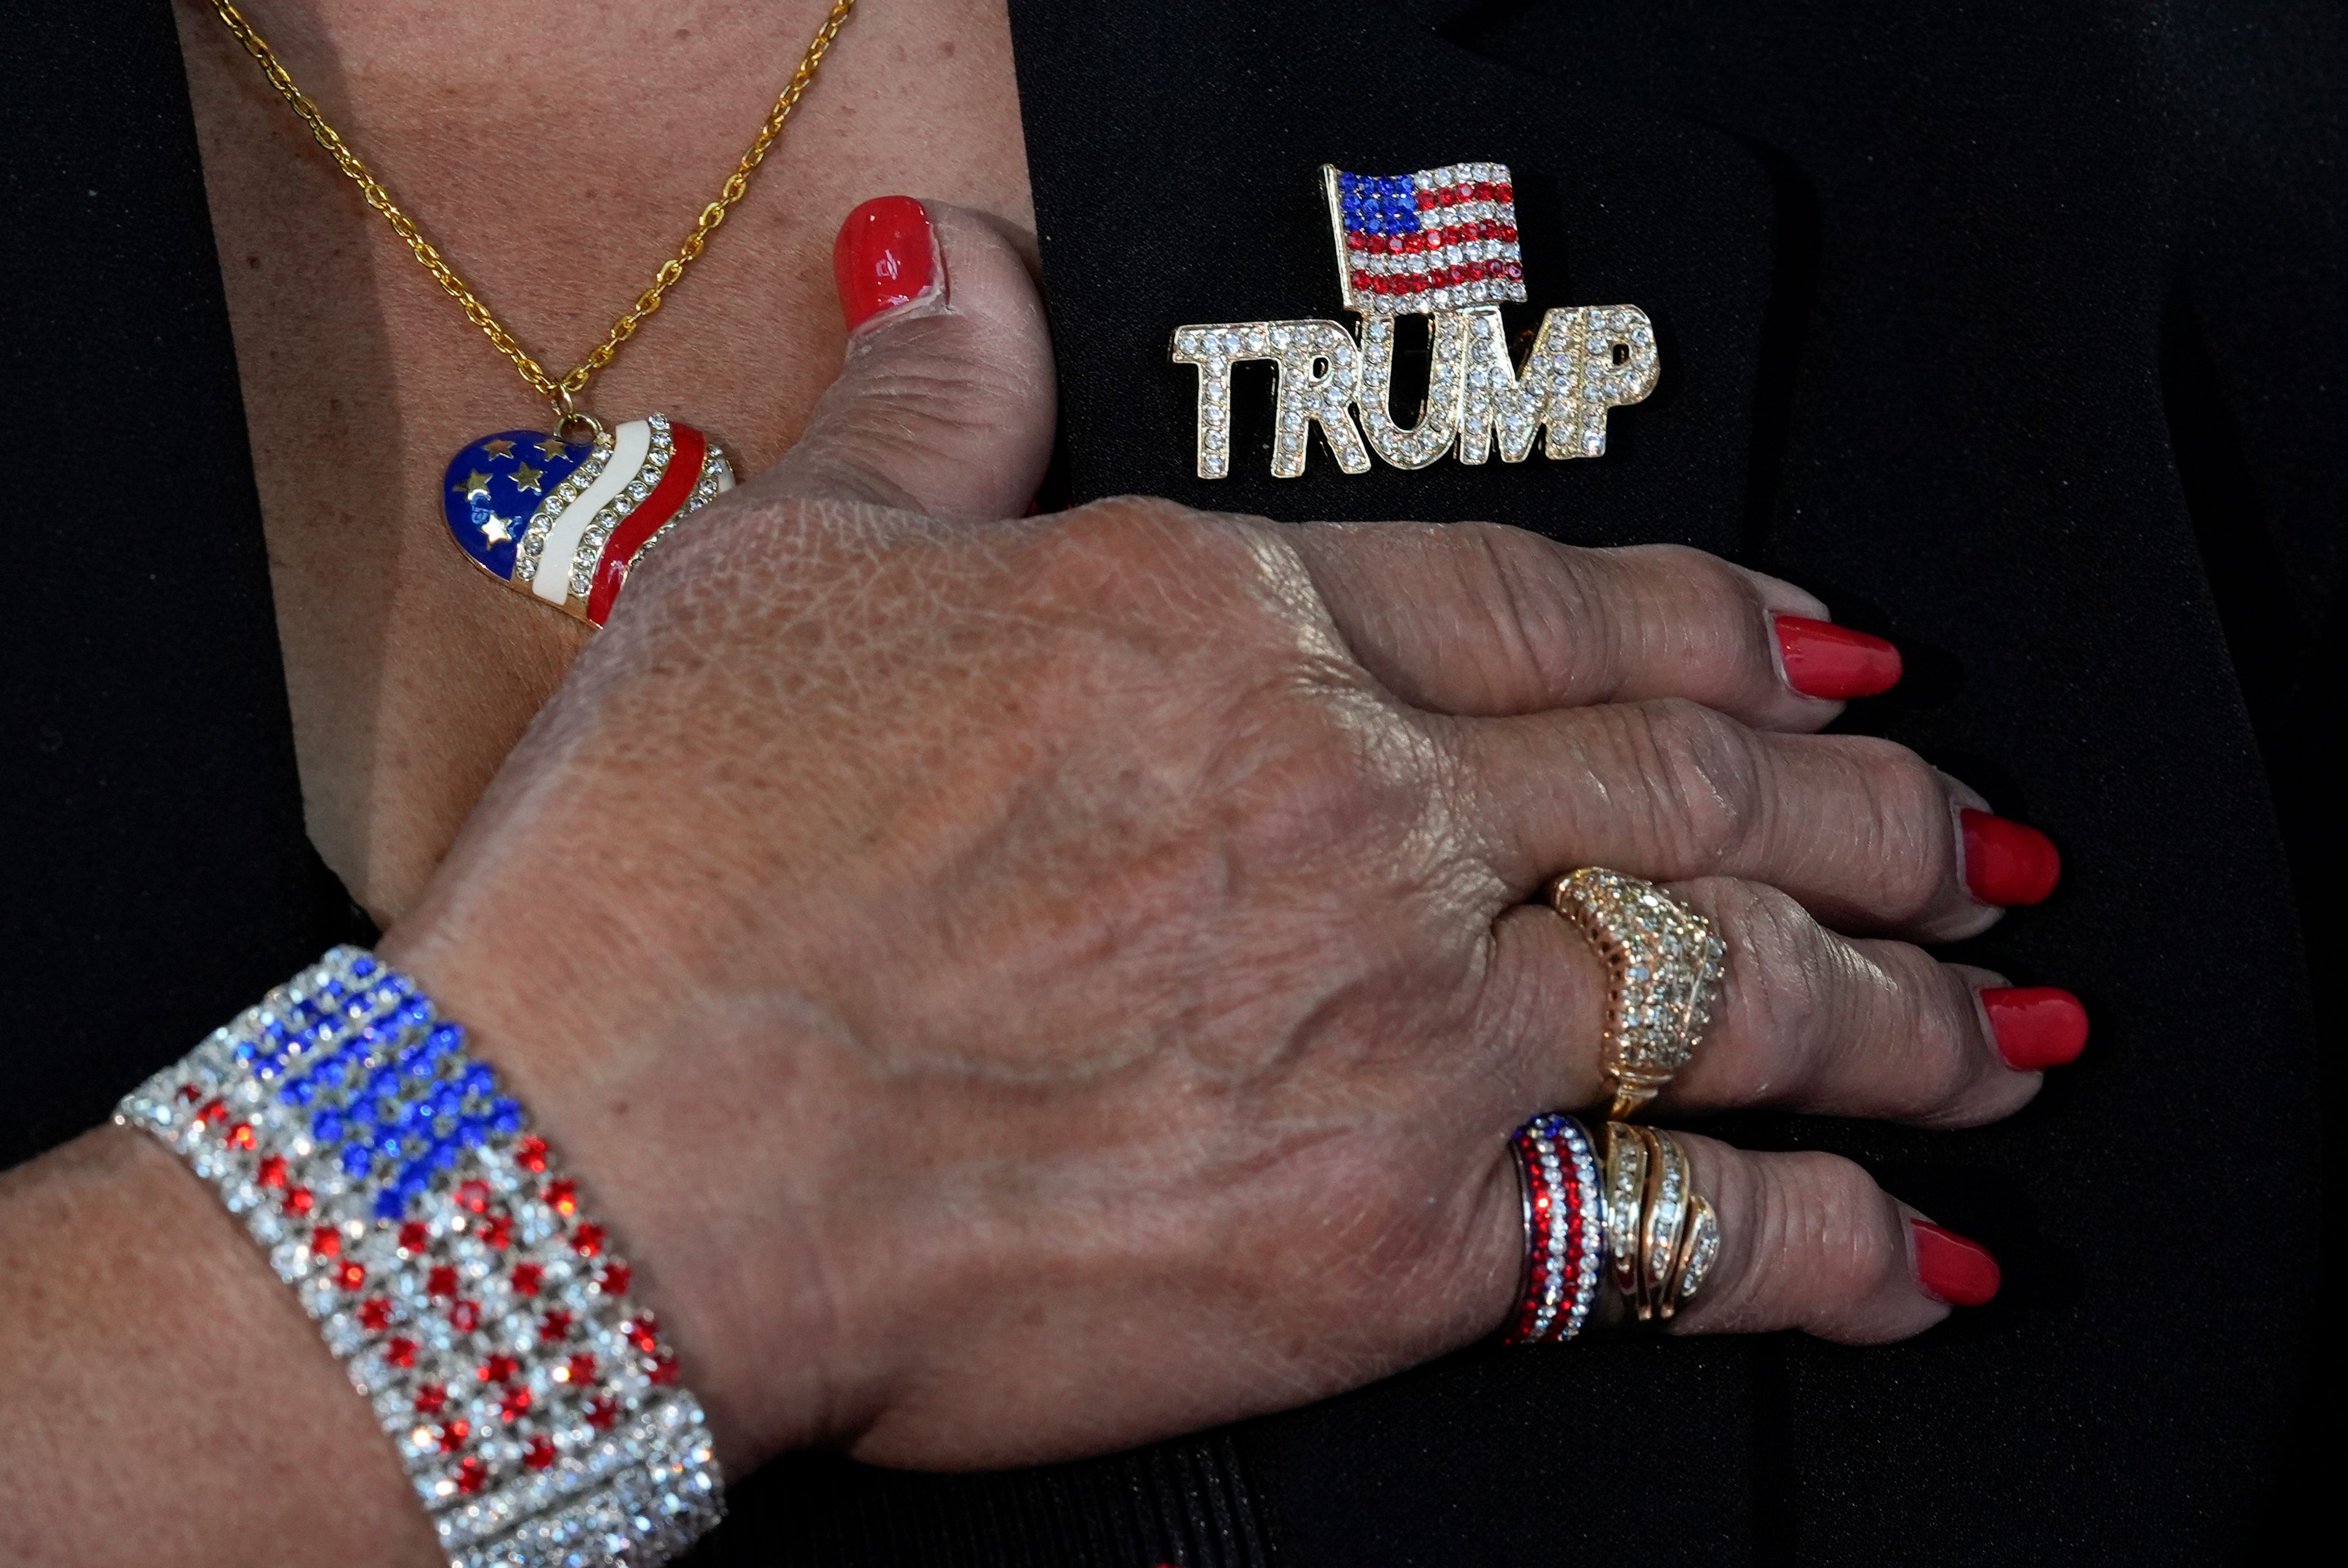
[[[1338,291],[1362,317],[1219,322],[1174,331],[1174,361],[1197,366],[1197,477],[1230,474],[1230,366],[1268,359],[1277,373],[1273,477],[1305,472],[1320,425],[1348,474],[1369,455],[1404,469],[1458,448],[1460,462],[1524,462],[1545,437],[1552,458],[1606,451],[1606,411],[1655,390],[1655,329],[1637,305],[1583,305],[1540,319],[1524,364],[1510,361],[1503,303],[1524,303],[1517,192],[1507,164],[1418,174],[1345,174],[1322,164]],[[1395,317],[1428,317],[1428,399],[1399,425]],[[1359,425],[1355,425],[1359,415]]]

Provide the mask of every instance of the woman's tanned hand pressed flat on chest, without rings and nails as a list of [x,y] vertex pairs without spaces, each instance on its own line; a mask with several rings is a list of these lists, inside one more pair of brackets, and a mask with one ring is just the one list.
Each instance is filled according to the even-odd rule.
[[[1813,735],[1773,617],[1817,601],[1475,523],[989,521],[1043,326],[935,216],[939,286],[646,561],[385,944],[596,1188],[730,1465],[1104,1451],[1491,1333],[1505,1136],[1599,1099],[1604,969],[1526,906],[1573,866],[1728,944],[1665,1120],[2031,1099],[1996,976],[1909,946],[1996,920],[1982,803]],[[1949,1310],[1857,1167],[1688,1145],[1723,1253],[1679,1329]]]

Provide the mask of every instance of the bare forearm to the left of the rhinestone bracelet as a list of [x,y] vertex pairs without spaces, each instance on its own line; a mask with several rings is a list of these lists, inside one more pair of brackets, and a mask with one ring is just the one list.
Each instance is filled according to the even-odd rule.
[[16,1552],[225,1568],[298,1542],[319,1563],[448,1561],[294,1293],[153,1138],[99,1127],[0,1174],[0,1256]]

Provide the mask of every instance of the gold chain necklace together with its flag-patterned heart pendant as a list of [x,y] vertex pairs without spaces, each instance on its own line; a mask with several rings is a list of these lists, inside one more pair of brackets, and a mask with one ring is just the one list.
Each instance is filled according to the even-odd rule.
[[[831,52],[831,40],[838,38],[848,14],[857,9],[857,0],[834,0],[831,14],[824,16],[808,52],[798,59],[791,82],[775,99],[775,108],[758,127],[749,150],[726,176],[718,200],[700,211],[693,232],[653,272],[650,286],[620,312],[594,352],[561,380],[547,376],[547,369],[521,347],[472,291],[472,284],[448,265],[448,258],[425,237],[416,218],[399,209],[366,160],[343,141],[343,134],[326,122],[310,94],[294,82],[254,23],[228,0],[211,0],[211,9],[254,56],[277,96],[310,127],[317,146],[326,148],[336,167],[366,197],[366,204],[383,214],[392,232],[406,242],[432,282],[463,307],[465,319],[481,329],[491,347],[514,364],[521,380],[531,383],[531,390],[554,408],[552,430],[507,430],[481,437],[448,462],[441,491],[448,533],[474,566],[505,587],[601,627],[620,584],[627,582],[629,566],[643,559],[643,552],[679,519],[730,491],[735,477],[726,453],[683,420],[653,413],[606,430],[575,399],[594,373],[613,361],[620,345],[636,336],[643,319],[660,310],[662,296],[676,286],[676,279],[709,244],[709,235],[749,192],[751,176],[765,162],[775,138],[782,136],[798,99],[815,82],[824,54]],[[578,425],[589,430],[589,439],[571,441],[566,437]]]

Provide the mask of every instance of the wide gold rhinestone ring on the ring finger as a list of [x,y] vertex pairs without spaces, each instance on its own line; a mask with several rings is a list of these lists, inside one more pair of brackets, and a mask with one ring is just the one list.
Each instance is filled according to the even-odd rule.
[[1728,948],[1709,920],[1662,887],[1601,866],[1550,883],[1550,906],[1606,960],[1608,1115],[1637,1115],[1695,1054]]

